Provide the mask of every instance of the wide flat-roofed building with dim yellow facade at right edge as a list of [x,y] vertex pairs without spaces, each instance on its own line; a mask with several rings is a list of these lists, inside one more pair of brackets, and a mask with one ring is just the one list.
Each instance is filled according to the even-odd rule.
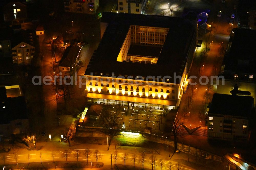
[[231,94],[237,86],[238,95],[256,97],[255,39],[256,30],[233,29],[220,73],[225,78],[225,85],[217,85],[217,93]]

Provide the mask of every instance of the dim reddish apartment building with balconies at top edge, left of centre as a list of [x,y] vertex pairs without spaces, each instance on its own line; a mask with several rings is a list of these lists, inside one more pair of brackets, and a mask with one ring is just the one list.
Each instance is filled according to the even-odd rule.
[[94,14],[98,9],[99,0],[64,0],[65,12]]

